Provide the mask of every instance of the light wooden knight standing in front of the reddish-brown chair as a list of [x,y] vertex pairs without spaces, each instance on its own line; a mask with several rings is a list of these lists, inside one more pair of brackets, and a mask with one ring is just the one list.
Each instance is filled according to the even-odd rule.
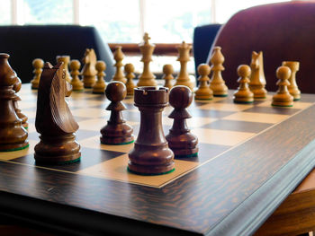
[[254,93],[254,99],[266,98],[266,79],[264,74],[263,52],[252,52],[252,60],[250,62],[250,82],[249,89]]

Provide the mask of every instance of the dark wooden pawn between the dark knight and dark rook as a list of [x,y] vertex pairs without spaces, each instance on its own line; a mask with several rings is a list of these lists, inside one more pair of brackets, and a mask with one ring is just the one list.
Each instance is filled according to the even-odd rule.
[[122,118],[121,110],[127,109],[121,102],[127,95],[125,84],[114,81],[107,84],[105,90],[106,97],[112,101],[107,110],[111,110],[111,118],[107,121],[107,125],[101,129],[102,144],[130,144],[133,142],[133,128],[126,124],[126,120]]

